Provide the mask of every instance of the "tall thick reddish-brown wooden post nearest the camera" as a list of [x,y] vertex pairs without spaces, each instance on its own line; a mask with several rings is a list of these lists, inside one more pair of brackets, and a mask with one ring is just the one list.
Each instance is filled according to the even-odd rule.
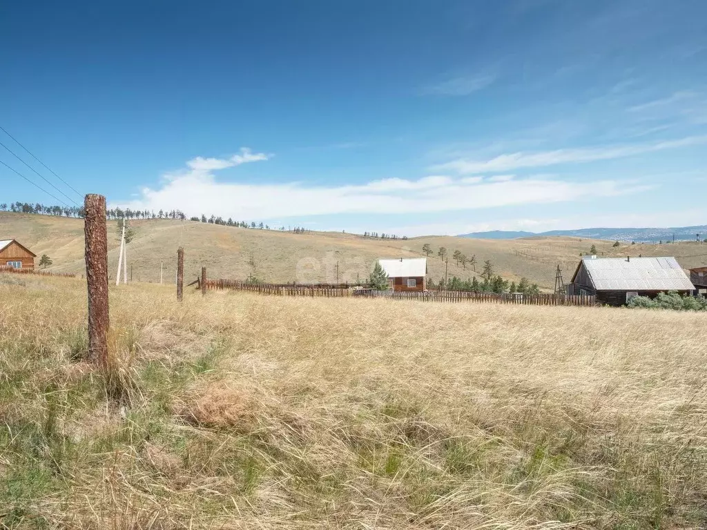
[[88,284],[88,357],[108,364],[108,240],[105,197],[88,194],[83,201],[83,232],[86,236],[86,283]]

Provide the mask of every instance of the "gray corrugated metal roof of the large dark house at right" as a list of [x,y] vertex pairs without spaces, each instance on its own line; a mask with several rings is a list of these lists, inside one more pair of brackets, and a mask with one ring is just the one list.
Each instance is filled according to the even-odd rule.
[[675,258],[583,258],[596,290],[693,290]]

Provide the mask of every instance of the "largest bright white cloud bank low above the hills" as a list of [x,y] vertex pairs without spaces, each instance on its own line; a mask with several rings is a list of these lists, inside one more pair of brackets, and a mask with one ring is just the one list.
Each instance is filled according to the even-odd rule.
[[[597,180],[569,182],[537,175],[524,179],[452,178],[431,175],[421,179],[382,179],[358,185],[307,186],[296,182],[244,184],[218,182],[214,171],[245,160],[266,160],[242,150],[226,160],[194,158],[189,170],[165,175],[158,189],[141,190],[139,199],[114,206],[134,209],[177,208],[189,216],[201,213],[243,220],[271,220],[293,216],[337,213],[424,213],[544,204],[582,198],[641,192],[636,181]],[[499,179],[496,179],[498,181]]]

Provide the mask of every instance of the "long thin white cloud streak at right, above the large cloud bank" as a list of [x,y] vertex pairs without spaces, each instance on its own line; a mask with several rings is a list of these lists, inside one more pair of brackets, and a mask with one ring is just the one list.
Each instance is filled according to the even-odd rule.
[[683,139],[662,141],[658,143],[642,143],[628,146],[605,146],[597,148],[557,149],[555,151],[539,151],[537,153],[507,153],[489,160],[468,160],[459,158],[448,163],[434,165],[433,170],[456,171],[460,174],[482,172],[503,172],[517,170],[522,167],[545,167],[566,163],[587,163],[596,160],[611,160],[629,156],[664,151],[679,147],[698,146],[707,143],[707,136],[687,136]]

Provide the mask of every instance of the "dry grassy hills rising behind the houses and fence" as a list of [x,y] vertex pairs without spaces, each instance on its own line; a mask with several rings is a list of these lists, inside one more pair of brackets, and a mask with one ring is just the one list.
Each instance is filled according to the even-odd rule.
[[[115,274],[118,261],[119,237],[117,221],[108,223],[109,261]],[[164,278],[172,278],[176,267],[177,246],[185,247],[185,275],[188,281],[197,277],[206,266],[214,278],[245,279],[249,274],[270,282],[330,282],[367,278],[378,258],[419,257],[428,243],[434,254],[428,260],[428,277],[438,281],[444,264],[437,257],[440,246],[448,249],[449,276],[462,279],[474,276],[474,271],[457,266],[451,259],[459,249],[467,256],[477,257],[477,271],[484,260],[490,259],[497,273],[508,281],[522,276],[552,290],[555,268],[561,264],[565,281],[569,281],[580,252],[589,252],[592,244],[607,256],[691,256],[707,254],[707,247],[696,243],[676,245],[621,245],[612,242],[547,237],[522,240],[472,240],[462,237],[415,237],[410,240],[374,240],[358,235],[312,232],[293,234],[276,230],[246,230],[174,220],[136,220],[136,237],[128,245],[129,262],[136,281],[158,282],[160,263]],[[16,238],[28,245],[35,254],[49,254],[54,264],[49,270],[83,273],[83,220],[0,212],[0,238]],[[520,255],[522,253],[524,255]],[[679,259],[684,267],[707,264],[707,256]]]

